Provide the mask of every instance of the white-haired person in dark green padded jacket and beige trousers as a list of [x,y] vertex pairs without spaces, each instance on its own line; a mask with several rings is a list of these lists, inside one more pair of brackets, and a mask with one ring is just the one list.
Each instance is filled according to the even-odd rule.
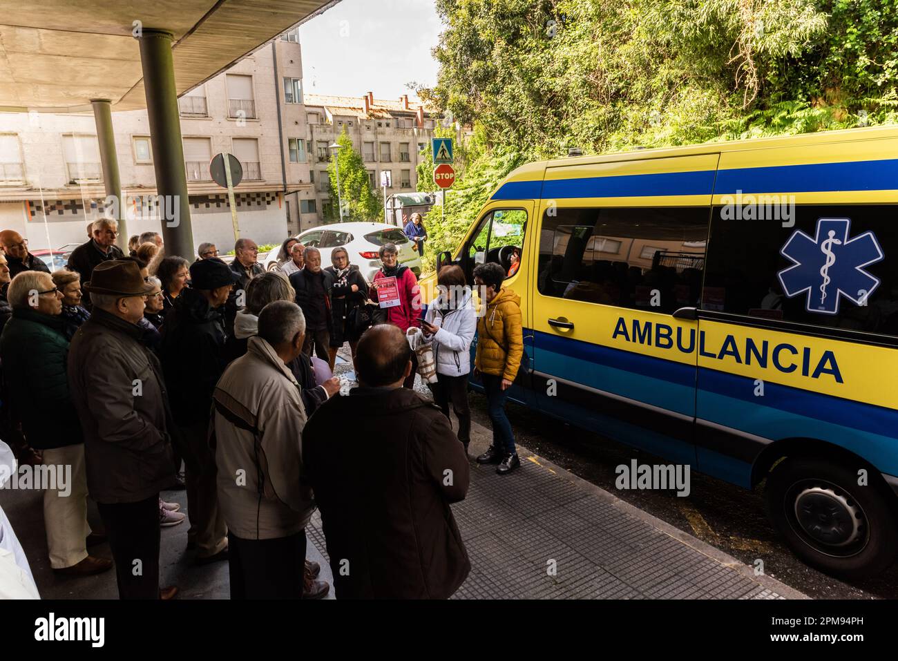
[[0,359],[13,419],[40,450],[42,463],[57,472],[56,484],[43,487],[50,567],[57,574],[98,574],[112,568],[112,560],[87,554],[84,437],[66,380],[63,295],[48,273],[24,271],[13,278],[9,297],[13,318],[0,337]]

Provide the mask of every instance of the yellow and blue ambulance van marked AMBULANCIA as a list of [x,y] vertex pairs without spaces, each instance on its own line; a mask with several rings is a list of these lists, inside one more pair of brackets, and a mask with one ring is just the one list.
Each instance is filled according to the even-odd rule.
[[471,283],[515,248],[512,399],[766,480],[772,523],[814,567],[894,561],[898,128],[530,163],[439,262]]

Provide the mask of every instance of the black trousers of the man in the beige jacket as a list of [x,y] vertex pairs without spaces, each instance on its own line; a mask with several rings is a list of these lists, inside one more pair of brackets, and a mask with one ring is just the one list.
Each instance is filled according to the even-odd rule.
[[302,599],[305,530],[271,540],[227,533],[232,599]]

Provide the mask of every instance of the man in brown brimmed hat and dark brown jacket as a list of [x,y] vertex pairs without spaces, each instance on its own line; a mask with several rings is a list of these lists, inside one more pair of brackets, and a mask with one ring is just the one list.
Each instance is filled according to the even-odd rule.
[[72,339],[68,384],[84,430],[87,487],[106,526],[119,596],[158,599],[159,492],[174,480],[172,423],[162,366],[136,325],[155,286],[135,261],[108,260],[85,288],[93,312]]

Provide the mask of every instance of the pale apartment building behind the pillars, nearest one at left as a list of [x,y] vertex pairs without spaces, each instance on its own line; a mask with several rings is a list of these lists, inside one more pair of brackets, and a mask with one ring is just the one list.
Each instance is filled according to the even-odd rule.
[[[179,108],[195,244],[233,246],[227,193],[208,170],[221,152],[242,163],[235,189],[242,236],[280,242],[320,223],[298,29],[183,95]],[[128,234],[158,231],[146,112],[113,112],[112,121]],[[105,197],[91,114],[0,111],[0,229],[18,231],[32,250],[84,242]]]

